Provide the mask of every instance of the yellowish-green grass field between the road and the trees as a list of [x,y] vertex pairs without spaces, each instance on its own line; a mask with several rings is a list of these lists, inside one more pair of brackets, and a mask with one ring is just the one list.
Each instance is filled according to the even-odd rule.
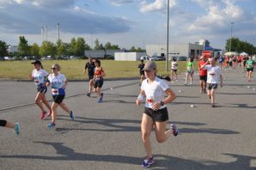
[[[60,64],[61,72],[70,80],[84,80],[87,74],[83,73],[84,64],[86,60],[48,60],[42,61],[44,69],[50,72],[52,64]],[[136,77],[139,76],[137,65],[138,61],[113,61],[101,60],[101,66],[106,72],[106,78],[118,77]],[[157,75],[168,75],[165,71],[165,61],[156,62]],[[179,71],[185,70],[186,62],[179,62]],[[169,62],[169,66],[171,63]],[[6,79],[28,79],[34,69],[31,61],[3,61],[0,62],[0,78]]]

